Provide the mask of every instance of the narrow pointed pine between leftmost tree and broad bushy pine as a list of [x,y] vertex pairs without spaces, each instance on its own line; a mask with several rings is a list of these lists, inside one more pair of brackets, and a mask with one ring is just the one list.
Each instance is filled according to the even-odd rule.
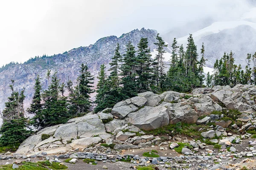
[[31,119],[31,123],[37,129],[41,128],[40,123],[44,119],[42,115],[42,103],[41,103],[42,85],[41,85],[40,79],[41,78],[39,77],[39,75],[35,79],[34,96],[32,97],[32,103],[30,105],[30,108],[27,109],[28,113],[34,114],[34,117]]

